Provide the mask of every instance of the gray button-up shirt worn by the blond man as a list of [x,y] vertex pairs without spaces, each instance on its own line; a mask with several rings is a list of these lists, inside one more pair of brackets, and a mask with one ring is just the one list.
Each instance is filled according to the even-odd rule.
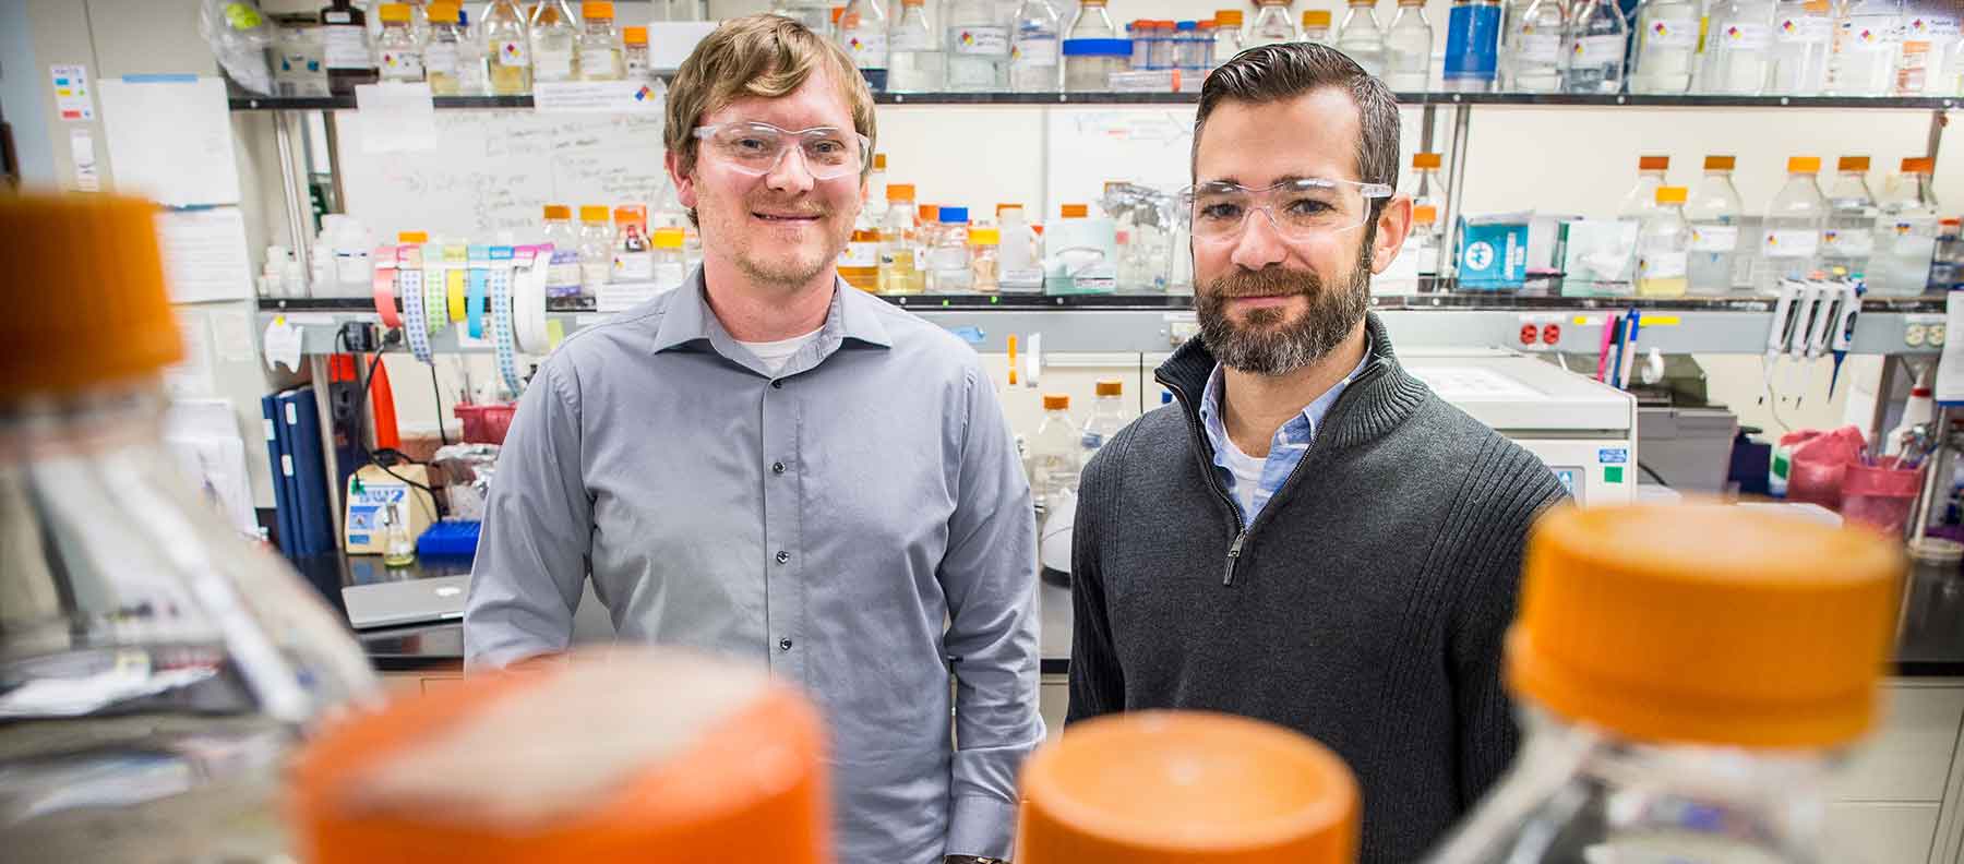
[[841,862],[1006,858],[1043,740],[1035,558],[968,346],[841,283],[772,377],[697,271],[538,369],[491,483],[465,654],[566,648],[591,573],[623,640],[768,664],[817,701]]

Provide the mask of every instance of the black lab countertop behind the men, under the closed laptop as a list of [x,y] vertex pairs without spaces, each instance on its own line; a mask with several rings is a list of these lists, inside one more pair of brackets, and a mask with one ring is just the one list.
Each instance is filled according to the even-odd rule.
[[[393,579],[424,579],[469,573],[469,560],[418,562],[414,567],[383,567],[381,556],[324,556],[300,564],[300,573],[342,609],[342,585]],[[324,589],[332,585],[332,589]],[[1043,674],[1070,672],[1070,591],[1039,581],[1039,648]],[[1964,575],[1911,571],[1903,605],[1895,675],[1964,677]],[[369,662],[379,672],[458,670],[464,664],[464,626],[432,622],[355,632]]]

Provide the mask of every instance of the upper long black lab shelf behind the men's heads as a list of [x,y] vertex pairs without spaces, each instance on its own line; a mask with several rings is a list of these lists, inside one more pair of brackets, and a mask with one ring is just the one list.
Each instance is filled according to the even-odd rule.
[[[1153,106],[1194,104],[1198,92],[876,92],[892,106]],[[354,96],[232,96],[232,110],[354,110]],[[532,96],[436,96],[438,110],[532,108]],[[1872,108],[1952,110],[1960,96],[1640,96],[1569,92],[1400,92],[1404,106],[1532,106],[1532,108]]]

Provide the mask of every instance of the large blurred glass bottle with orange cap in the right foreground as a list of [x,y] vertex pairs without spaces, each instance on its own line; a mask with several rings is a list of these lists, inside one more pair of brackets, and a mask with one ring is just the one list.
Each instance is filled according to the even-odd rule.
[[1424,860],[1860,860],[1830,782],[1887,703],[1899,546],[1744,507],[1552,513],[1504,650],[1520,756]]

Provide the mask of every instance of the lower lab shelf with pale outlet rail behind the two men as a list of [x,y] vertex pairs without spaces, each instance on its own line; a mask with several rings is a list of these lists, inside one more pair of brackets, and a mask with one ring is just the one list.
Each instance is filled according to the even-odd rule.
[[[949,328],[980,351],[1023,346],[1043,334],[1047,351],[1169,351],[1190,338],[1192,298],[1176,295],[915,295],[886,297],[921,318]],[[1773,326],[1773,302],[1764,297],[1644,300],[1616,297],[1536,297],[1534,293],[1432,293],[1373,297],[1400,348],[1520,348],[1595,353],[1610,314],[1642,310],[1638,342],[1664,353],[1764,353]],[[566,334],[607,320],[591,300],[550,300],[550,318]],[[344,322],[375,322],[365,298],[261,298],[259,326],[275,314],[302,330],[302,351],[332,353]],[[1944,298],[1870,298],[1856,320],[1854,353],[1935,353],[1940,350]],[[1522,342],[1526,332],[1534,342]],[[1937,340],[1935,344],[1931,340]],[[438,351],[456,350],[456,334],[432,336]],[[481,350],[481,348],[479,348]]]

